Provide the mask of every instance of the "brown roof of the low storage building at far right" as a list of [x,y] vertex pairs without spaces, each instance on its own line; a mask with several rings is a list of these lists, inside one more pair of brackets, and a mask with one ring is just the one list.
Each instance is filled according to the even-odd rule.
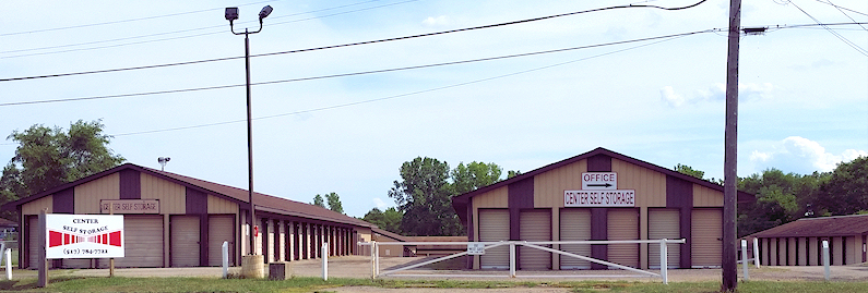
[[801,218],[748,237],[822,237],[868,234],[868,215]]

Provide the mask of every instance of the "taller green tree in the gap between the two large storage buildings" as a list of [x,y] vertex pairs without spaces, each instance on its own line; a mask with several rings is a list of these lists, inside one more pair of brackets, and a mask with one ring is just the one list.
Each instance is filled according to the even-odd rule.
[[452,209],[449,164],[432,158],[418,157],[404,162],[402,181],[395,181],[389,197],[395,199],[404,213],[401,230],[415,235],[461,235],[464,228]]

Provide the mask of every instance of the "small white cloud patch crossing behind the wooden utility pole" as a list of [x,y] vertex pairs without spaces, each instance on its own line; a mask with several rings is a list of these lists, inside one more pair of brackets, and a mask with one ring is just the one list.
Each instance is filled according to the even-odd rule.
[[[771,99],[774,89],[775,86],[771,83],[738,84],[738,100],[757,101]],[[661,99],[674,108],[681,107],[686,103],[694,105],[703,101],[724,101],[726,100],[726,85],[715,83],[706,89],[697,89],[692,95],[687,96],[677,93],[671,86],[664,86],[661,88]]]

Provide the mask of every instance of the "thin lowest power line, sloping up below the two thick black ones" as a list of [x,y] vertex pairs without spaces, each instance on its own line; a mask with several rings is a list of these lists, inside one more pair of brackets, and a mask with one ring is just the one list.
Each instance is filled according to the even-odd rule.
[[[408,97],[408,96],[415,96],[415,95],[420,95],[420,94],[426,94],[426,93],[431,93],[431,91],[437,91],[437,90],[443,90],[443,89],[448,89],[448,88],[461,87],[461,86],[465,86],[465,85],[478,84],[478,83],[484,83],[484,82],[488,82],[488,81],[504,78],[504,77],[509,77],[509,76],[514,76],[514,75],[520,75],[520,74],[542,71],[542,70],[546,70],[546,69],[551,69],[551,68],[556,68],[556,66],[562,66],[562,65],[567,65],[567,64],[571,64],[571,63],[575,63],[575,62],[580,62],[580,61],[585,61],[585,60],[601,58],[601,57],[604,57],[604,56],[615,54],[615,53],[619,53],[619,52],[623,52],[623,51],[628,51],[628,50],[633,50],[633,49],[638,49],[638,48],[642,48],[642,47],[647,47],[647,46],[661,44],[661,42],[664,42],[664,41],[675,40],[675,39],[682,38],[682,37],[686,37],[686,36],[689,36],[689,35],[701,34],[701,33],[710,33],[710,32],[711,32],[711,29],[709,29],[709,30],[699,30],[699,32],[693,32],[693,33],[677,34],[677,35],[669,35],[669,36],[663,36],[663,37],[655,37],[655,38],[646,38],[644,40],[650,40],[650,39],[658,39],[658,40],[650,42],[650,44],[638,45],[638,46],[633,46],[633,47],[630,47],[630,48],[625,48],[625,49],[620,49],[620,50],[615,50],[615,51],[609,51],[609,52],[605,52],[605,53],[599,53],[599,54],[585,57],[585,58],[581,58],[581,59],[576,59],[576,60],[571,60],[571,61],[567,61],[567,62],[560,62],[560,63],[556,63],[556,64],[551,64],[551,65],[546,65],[546,66],[524,70],[524,71],[519,71],[519,72],[513,72],[513,73],[508,73],[508,74],[501,74],[501,75],[486,77],[486,78],[480,78],[480,80],[475,80],[475,81],[471,81],[471,82],[464,82],[464,83],[459,83],[459,84],[452,84],[452,85],[447,85],[447,86],[428,88],[428,89],[417,90],[417,91],[413,91],[413,93],[406,93],[406,94],[394,95],[394,96],[377,98],[377,99],[370,99],[370,100],[347,102],[347,103],[342,103],[342,105],[326,106],[326,107],[313,108],[313,109],[308,109],[308,110],[299,110],[299,111],[281,113],[281,114],[272,114],[272,115],[259,117],[259,118],[254,118],[253,120],[265,120],[265,119],[274,119],[274,118],[281,118],[281,117],[287,117],[287,115],[297,115],[297,114],[304,114],[304,113],[333,110],[333,109],[346,108],[346,107],[352,107],[352,106],[358,106],[358,105],[365,105],[365,103],[371,103],[371,102],[397,99],[397,98],[403,98],[403,97]],[[663,39],[661,39],[661,38],[663,38]],[[111,136],[129,136],[129,135],[139,135],[139,134],[181,131],[181,130],[201,129],[201,127],[217,126],[217,125],[241,123],[241,122],[247,122],[247,120],[233,120],[233,121],[223,121],[223,122],[216,122],[216,123],[207,123],[207,124],[199,124],[199,125],[181,126],[181,127],[171,127],[171,129],[164,129],[164,130],[130,132],[130,133],[114,134]]]

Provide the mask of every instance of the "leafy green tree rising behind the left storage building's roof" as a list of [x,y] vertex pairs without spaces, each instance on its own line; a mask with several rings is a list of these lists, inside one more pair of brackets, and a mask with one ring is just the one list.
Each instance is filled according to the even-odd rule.
[[[35,124],[7,139],[17,143],[3,168],[0,200],[4,204],[114,168],[124,161],[108,148],[102,121],[70,123],[69,131]],[[4,217],[14,217],[10,212]]]

